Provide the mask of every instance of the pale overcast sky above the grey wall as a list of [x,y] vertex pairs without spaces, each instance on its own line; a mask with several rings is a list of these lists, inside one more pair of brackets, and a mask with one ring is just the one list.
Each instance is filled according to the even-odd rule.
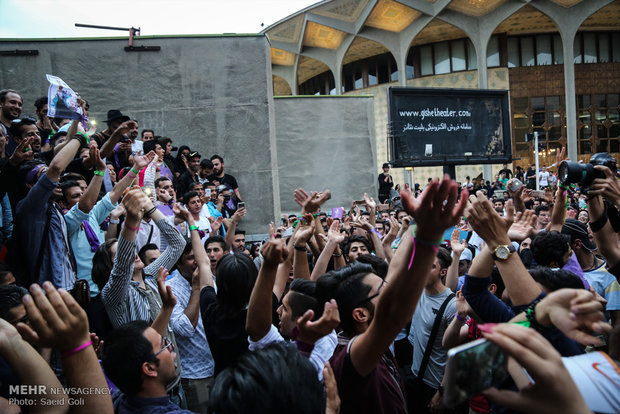
[[[75,23],[136,27],[140,35],[258,33],[318,0],[0,0],[0,38],[125,36]],[[264,26],[261,26],[264,24]]]

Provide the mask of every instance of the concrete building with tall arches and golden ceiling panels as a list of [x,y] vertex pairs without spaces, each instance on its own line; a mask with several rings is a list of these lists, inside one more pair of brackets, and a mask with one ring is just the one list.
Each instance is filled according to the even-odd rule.
[[[377,170],[389,159],[388,86],[507,89],[513,165],[527,167],[547,137],[550,165],[561,146],[587,160],[620,155],[619,0],[331,0],[264,30],[274,95],[374,96]],[[458,180],[501,165],[460,166]],[[395,174],[425,183],[441,167]]]

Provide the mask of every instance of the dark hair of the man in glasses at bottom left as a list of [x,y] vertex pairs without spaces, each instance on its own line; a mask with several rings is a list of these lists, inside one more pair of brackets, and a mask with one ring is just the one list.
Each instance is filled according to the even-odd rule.
[[145,321],[132,321],[108,333],[101,363],[106,376],[125,395],[132,397],[142,390],[142,364],[154,362],[153,345],[144,336]]

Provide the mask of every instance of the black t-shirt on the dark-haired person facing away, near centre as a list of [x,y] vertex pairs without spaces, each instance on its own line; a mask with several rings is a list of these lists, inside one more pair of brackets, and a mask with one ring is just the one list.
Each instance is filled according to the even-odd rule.
[[[272,309],[277,309],[278,299],[274,294],[271,297]],[[215,362],[214,375],[248,352],[248,334],[245,332],[247,313],[248,311],[244,310],[233,318],[225,318],[218,312],[215,289],[206,286],[200,291],[200,315]]]

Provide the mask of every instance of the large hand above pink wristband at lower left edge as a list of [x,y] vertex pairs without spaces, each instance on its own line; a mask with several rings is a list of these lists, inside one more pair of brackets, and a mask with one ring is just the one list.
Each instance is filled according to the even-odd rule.
[[50,282],[30,286],[30,295],[22,299],[29,324],[18,323],[17,329],[31,344],[69,351],[90,340],[88,318],[84,309],[64,289],[56,290]]

